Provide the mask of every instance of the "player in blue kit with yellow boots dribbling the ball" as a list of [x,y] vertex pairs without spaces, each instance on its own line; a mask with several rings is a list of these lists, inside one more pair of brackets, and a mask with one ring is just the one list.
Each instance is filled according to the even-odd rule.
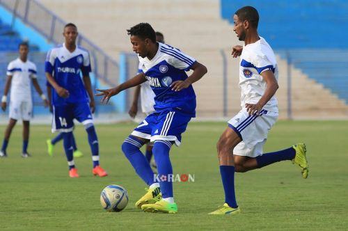
[[[136,207],[145,212],[177,213],[173,198],[173,169],[169,150],[173,144],[180,145],[181,134],[188,122],[196,116],[196,95],[192,83],[207,73],[207,68],[179,49],[156,42],[154,29],[141,23],[127,30],[133,51],[139,56],[142,72],[125,83],[107,90],[99,90],[102,101],[122,90],[148,81],[155,93],[155,113],[150,114],[134,129],[122,144],[122,151],[136,173],[148,184],[145,196],[136,202]],[[187,77],[185,71],[193,70]],[[161,180],[157,182],[149,162],[139,148],[149,141],[154,142],[153,154]]]

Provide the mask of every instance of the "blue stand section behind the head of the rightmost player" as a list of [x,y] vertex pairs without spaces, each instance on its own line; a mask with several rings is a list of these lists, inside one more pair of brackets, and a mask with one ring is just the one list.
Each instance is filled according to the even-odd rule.
[[[221,0],[221,15],[232,23],[243,1]],[[347,1],[248,1],[260,14],[260,34],[282,58],[348,103]],[[286,13],[286,14],[285,14]],[[291,17],[290,17],[291,16]],[[338,23],[339,22],[339,23]],[[339,32],[338,32],[339,31]]]

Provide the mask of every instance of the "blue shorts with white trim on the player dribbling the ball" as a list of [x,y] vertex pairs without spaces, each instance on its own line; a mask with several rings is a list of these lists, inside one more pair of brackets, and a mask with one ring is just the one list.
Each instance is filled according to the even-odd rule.
[[161,111],[150,114],[132,132],[132,136],[154,141],[174,141],[181,143],[181,134],[185,132],[191,116],[179,111]]

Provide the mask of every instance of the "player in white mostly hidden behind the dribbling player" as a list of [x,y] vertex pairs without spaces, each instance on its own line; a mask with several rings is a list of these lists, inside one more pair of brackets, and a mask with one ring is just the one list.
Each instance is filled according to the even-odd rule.
[[[156,31],[156,42],[164,43],[164,35],[163,33]],[[141,67],[142,63],[139,63],[138,73],[142,72]],[[141,113],[138,112],[138,102],[140,95],[140,103],[141,103]],[[139,117],[141,120],[144,120],[146,116],[149,116],[151,113],[155,112],[155,93],[152,91],[150,83],[145,81],[141,83],[141,85],[136,86],[134,90],[133,103],[131,108],[129,109],[129,116],[132,118]],[[151,164],[151,167],[156,170],[157,166],[155,161],[151,163],[152,158],[152,147],[153,143],[147,143],[145,148],[145,157]]]

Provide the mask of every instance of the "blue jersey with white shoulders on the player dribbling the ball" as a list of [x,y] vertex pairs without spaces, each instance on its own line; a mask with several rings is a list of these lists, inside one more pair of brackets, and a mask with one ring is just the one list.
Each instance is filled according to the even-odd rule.
[[182,111],[191,117],[196,116],[196,94],[193,87],[180,91],[171,90],[171,83],[188,78],[186,71],[196,63],[196,59],[184,54],[179,49],[157,42],[157,54],[149,60],[141,58],[141,70],[155,93],[155,110]]

